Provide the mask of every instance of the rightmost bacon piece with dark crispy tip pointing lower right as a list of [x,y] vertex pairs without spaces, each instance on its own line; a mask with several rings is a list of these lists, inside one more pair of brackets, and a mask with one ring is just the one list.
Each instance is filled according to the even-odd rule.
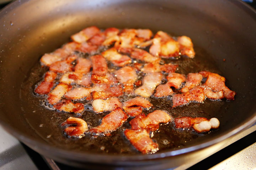
[[224,92],[224,97],[226,99],[235,100],[236,92],[230,90],[225,85],[225,80],[226,79],[224,77],[220,76],[219,74],[206,72],[206,71],[199,72],[199,74],[201,74],[203,77],[207,78],[207,80],[203,84],[203,86],[209,87],[214,92],[223,91]]

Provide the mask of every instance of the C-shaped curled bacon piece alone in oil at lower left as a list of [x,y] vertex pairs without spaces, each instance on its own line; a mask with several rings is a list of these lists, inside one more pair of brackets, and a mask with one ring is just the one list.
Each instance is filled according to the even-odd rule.
[[84,136],[84,132],[88,130],[88,126],[86,121],[80,118],[69,117],[63,124],[64,125],[72,125],[75,124],[76,126],[69,126],[64,129],[67,135],[81,138]]

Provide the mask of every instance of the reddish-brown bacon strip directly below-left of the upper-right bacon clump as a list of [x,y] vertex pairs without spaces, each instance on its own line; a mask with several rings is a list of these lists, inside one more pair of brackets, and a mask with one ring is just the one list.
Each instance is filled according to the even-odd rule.
[[145,61],[145,62],[156,62],[159,60],[158,57],[152,56],[150,53],[146,52],[142,49],[134,49],[131,53],[132,58],[135,58],[137,60]]

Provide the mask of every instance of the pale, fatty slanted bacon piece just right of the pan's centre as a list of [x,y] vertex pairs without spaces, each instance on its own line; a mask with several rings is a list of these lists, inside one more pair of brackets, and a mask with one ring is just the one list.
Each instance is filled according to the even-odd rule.
[[134,91],[135,94],[138,94],[142,97],[150,97],[156,86],[161,83],[161,79],[162,74],[159,72],[147,73],[143,79],[143,85]]

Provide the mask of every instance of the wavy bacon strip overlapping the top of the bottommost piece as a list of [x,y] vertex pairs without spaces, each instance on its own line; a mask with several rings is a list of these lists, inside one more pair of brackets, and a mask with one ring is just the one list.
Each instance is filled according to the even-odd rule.
[[160,123],[167,123],[172,118],[164,111],[156,110],[144,118],[134,118],[129,123],[133,130],[147,129],[157,130]]

